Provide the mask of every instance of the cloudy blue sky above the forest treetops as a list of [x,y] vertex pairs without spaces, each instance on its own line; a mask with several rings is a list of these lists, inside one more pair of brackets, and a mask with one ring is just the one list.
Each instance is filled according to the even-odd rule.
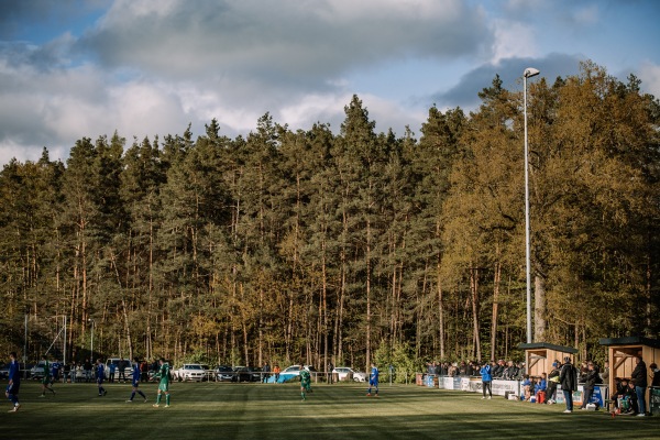
[[659,43],[657,0],[0,0],[0,165],[212,119],[235,138],[266,112],[338,132],[353,95],[419,138],[495,75],[521,90],[526,67],[552,82],[583,61],[660,98]]

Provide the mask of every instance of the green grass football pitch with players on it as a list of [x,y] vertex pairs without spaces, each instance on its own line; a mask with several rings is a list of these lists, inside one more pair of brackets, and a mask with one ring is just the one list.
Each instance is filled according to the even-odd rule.
[[[4,385],[2,385],[4,386]],[[175,383],[172,407],[153,408],[155,384],[143,384],[148,403],[130,397],[130,385],[21,385],[21,410],[0,413],[2,439],[658,439],[660,417],[612,418],[603,411],[564,415],[560,405],[482,400],[481,395],[415,385],[381,386],[366,397],[358,384],[316,385],[301,402],[296,384]],[[163,403],[165,399],[163,399]]]

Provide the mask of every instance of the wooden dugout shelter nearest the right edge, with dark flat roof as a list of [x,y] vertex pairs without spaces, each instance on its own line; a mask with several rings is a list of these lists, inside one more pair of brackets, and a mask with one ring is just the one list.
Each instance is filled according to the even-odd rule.
[[[616,389],[614,383],[615,377],[630,378],[630,374],[632,374],[632,370],[635,370],[636,356],[641,356],[647,369],[653,362],[660,364],[660,341],[657,339],[641,337],[605,338],[601,339],[600,342],[601,345],[607,346],[607,359],[609,361],[609,389]],[[647,395],[647,403],[648,402]]]

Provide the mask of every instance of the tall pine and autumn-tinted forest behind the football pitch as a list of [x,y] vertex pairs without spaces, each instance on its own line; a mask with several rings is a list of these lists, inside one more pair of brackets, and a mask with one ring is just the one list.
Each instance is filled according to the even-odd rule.
[[[658,334],[660,105],[592,63],[528,94],[535,341]],[[419,140],[358,97],[339,133],[82,138],[0,173],[2,349],[364,366],[526,339],[522,92]],[[62,333],[63,334],[63,333]],[[398,354],[397,354],[398,353]]]

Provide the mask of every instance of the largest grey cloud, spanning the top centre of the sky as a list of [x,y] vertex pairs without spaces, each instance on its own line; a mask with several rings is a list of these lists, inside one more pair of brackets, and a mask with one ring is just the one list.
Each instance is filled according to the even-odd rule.
[[240,76],[297,88],[407,56],[476,53],[488,35],[480,9],[459,0],[118,0],[81,48],[105,65],[175,78]]

